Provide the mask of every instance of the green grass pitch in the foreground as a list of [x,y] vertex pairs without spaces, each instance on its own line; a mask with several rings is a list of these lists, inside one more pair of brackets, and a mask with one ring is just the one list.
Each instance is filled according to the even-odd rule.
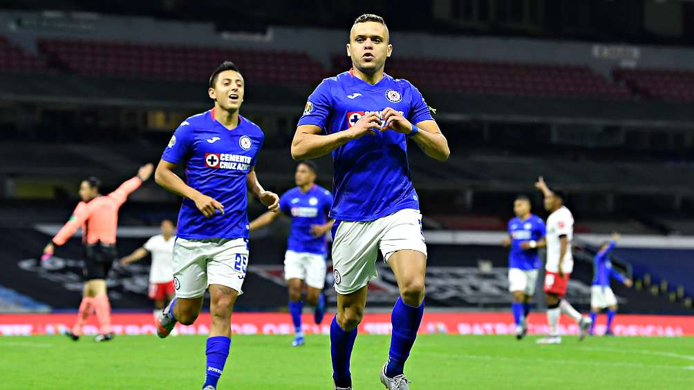
[[[235,335],[219,389],[332,389],[328,337],[309,335],[301,348],[291,339]],[[694,337],[535,339],[420,335],[405,372],[412,390],[694,389]],[[383,388],[388,346],[387,336],[357,337],[355,389]],[[0,337],[0,367],[0,389],[200,389],[205,337]]]

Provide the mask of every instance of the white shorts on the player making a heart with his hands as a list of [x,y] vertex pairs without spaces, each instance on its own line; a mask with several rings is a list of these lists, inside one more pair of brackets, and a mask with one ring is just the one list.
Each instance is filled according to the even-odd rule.
[[379,249],[386,262],[393,253],[403,249],[419,251],[426,256],[421,218],[418,210],[404,209],[378,220],[339,222],[332,242],[335,291],[350,294],[377,277]]

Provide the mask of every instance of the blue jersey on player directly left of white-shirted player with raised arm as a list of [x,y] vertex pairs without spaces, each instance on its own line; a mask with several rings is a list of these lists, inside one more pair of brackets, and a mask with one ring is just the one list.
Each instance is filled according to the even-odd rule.
[[538,269],[542,261],[537,249],[521,249],[521,242],[539,241],[545,236],[545,222],[537,215],[523,221],[521,218],[509,220],[509,236],[511,236],[511,251],[509,252],[509,268]]

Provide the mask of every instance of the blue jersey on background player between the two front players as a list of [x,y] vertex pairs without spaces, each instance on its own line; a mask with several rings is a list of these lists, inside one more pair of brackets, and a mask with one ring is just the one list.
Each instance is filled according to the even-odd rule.
[[309,254],[326,254],[325,236],[315,238],[311,225],[328,222],[332,207],[332,194],[323,187],[314,185],[306,193],[298,187],[291,188],[280,197],[280,210],[291,215],[291,232],[287,249]]

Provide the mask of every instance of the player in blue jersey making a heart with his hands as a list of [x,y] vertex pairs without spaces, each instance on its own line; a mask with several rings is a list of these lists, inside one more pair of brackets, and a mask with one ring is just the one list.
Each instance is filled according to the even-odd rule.
[[346,49],[353,69],[316,87],[291,143],[294,159],[332,152],[335,203],[330,217],[335,219],[332,262],[338,294],[330,326],[332,377],[336,389],[351,389],[350,355],[367,285],[377,276],[380,249],[400,289],[380,380],[391,390],[409,389],[403,369],[424,312],[427,250],[409,175],[407,139],[439,161],[446,161],[450,151],[420,92],[407,80],[384,73],[393,48],[381,17],[358,17]]

